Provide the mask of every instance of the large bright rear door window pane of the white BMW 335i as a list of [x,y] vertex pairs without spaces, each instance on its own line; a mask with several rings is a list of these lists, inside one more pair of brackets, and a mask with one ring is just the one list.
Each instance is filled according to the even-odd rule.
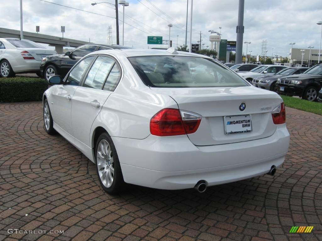
[[102,89],[104,81],[108,76],[115,61],[106,56],[99,56],[90,68],[90,71],[84,82],[84,87]]

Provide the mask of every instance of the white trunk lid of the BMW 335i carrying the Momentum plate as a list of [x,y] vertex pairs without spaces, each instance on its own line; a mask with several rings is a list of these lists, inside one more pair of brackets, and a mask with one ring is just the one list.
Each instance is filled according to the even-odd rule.
[[[269,137],[276,130],[271,112],[282,103],[278,94],[252,86],[226,88],[151,87],[151,89],[172,97],[180,110],[194,112],[202,116],[198,130],[193,134],[188,134],[189,139],[196,146],[219,145]],[[241,103],[246,104],[244,111],[239,109]],[[251,132],[226,134],[225,125],[229,121],[229,117],[225,122],[224,117],[237,115],[245,116],[245,119],[251,118]]]

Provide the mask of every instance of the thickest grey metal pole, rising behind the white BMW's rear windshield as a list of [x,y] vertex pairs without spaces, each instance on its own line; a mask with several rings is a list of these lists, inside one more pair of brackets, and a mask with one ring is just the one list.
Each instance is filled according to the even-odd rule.
[[[236,42],[236,58],[235,63],[241,64],[242,63],[242,43],[244,37],[244,5],[245,0],[239,0],[238,4],[238,25],[236,26],[236,33],[237,33],[237,42]],[[247,53],[246,53],[247,58]]]

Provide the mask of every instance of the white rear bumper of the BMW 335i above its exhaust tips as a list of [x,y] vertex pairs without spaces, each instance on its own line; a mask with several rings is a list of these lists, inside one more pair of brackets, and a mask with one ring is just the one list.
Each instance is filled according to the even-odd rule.
[[286,124],[267,138],[239,143],[194,146],[187,136],[143,140],[112,137],[126,183],[158,189],[208,186],[268,173],[283,164],[289,147]]

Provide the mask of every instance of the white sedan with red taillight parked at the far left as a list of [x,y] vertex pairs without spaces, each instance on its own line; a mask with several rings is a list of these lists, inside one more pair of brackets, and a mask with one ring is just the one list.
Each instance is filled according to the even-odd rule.
[[46,49],[30,40],[0,38],[0,75],[12,77],[17,73],[36,73],[40,75],[40,63],[55,50]]

